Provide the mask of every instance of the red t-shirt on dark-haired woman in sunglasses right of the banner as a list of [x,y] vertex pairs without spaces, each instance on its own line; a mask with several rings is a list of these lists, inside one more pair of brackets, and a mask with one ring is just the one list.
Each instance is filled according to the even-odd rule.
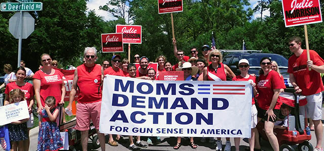
[[[263,110],[268,110],[273,97],[273,89],[285,88],[281,84],[280,76],[276,71],[271,70],[267,75],[261,74],[256,86],[259,95],[256,97],[258,105]],[[281,102],[277,100],[274,109],[280,109]]]

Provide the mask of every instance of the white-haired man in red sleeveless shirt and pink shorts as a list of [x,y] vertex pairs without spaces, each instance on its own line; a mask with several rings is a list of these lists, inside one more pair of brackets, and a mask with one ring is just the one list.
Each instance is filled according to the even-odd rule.
[[103,70],[100,65],[95,64],[97,60],[97,49],[86,47],[84,52],[85,63],[76,67],[73,78],[73,85],[70,92],[69,105],[71,110],[72,102],[79,89],[79,96],[76,104],[76,129],[81,131],[82,149],[88,149],[88,134],[90,120],[97,130],[101,150],[105,150],[105,135],[99,133],[99,119],[101,109],[102,90],[100,88],[103,80]]

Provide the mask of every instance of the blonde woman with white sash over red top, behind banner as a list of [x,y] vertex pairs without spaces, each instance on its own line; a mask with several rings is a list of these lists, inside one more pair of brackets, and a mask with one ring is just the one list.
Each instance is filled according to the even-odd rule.
[[[226,76],[231,79],[235,77],[232,70],[224,65],[223,56],[221,52],[217,49],[211,51],[208,55],[208,60],[212,62],[209,66],[204,68],[204,81],[226,81]],[[226,137],[225,151],[230,150],[231,142],[229,138]],[[220,137],[217,137],[216,150],[222,150],[222,141]]]

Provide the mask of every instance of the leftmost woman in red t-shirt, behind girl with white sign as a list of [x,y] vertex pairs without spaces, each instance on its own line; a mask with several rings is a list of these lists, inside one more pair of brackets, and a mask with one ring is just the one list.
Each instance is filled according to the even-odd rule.
[[[9,104],[9,100],[11,99],[9,96],[10,92],[14,89],[20,89],[25,93],[25,98],[27,101],[28,111],[29,111],[29,120],[27,121],[27,136],[29,136],[29,130],[34,126],[34,116],[31,113],[31,107],[34,104],[34,89],[32,84],[28,82],[24,82],[26,78],[26,70],[23,67],[19,67],[16,71],[16,82],[11,82],[6,85],[6,97],[5,97],[5,105]],[[28,150],[29,148],[29,137],[23,141],[24,150]]]

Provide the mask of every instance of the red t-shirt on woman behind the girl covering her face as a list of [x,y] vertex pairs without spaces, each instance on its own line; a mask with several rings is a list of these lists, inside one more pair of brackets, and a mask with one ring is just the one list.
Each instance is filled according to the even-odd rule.
[[47,96],[54,96],[56,105],[58,105],[61,101],[64,74],[59,70],[55,70],[53,75],[48,75],[42,70],[38,70],[32,78],[41,80],[39,95],[41,95],[42,106],[45,106]]

